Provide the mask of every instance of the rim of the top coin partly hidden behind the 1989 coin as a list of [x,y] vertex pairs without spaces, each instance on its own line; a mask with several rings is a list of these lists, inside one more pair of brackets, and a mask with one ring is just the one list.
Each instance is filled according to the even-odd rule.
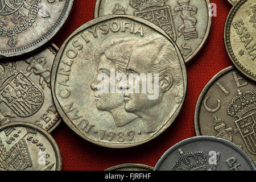
[[[204,44],[206,43],[208,36],[210,34],[210,28],[212,27],[212,16],[209,16],[209,12],[211,10],[210,7],[210,0],[204,0],[207,3],[208,6],[208,23],[207,23],[207,30],[205,30],[205,35],[204,35],[204,39],[202,40],[201,44],[199,45],[199,47],[197,47],[194,51],[194,53],[189,56],[187,59],[184,59],[185,63],[188,63],[189,61],[191,61],[203,48]],[[94,18],[98,18],[99,17],[99,13],[100,13],[100,3],[101,0],[96,0],[96,4],[95,4],[95,8],[94,8]],[[161,28],[162,29],[162,28]],[[167,34],[167,36],[169,36]]]

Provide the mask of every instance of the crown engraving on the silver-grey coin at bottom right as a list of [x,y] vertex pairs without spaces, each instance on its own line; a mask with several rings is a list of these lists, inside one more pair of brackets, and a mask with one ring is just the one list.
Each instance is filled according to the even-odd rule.
[[203,152],[187,152],[184,153],[179,149],[180,157],[177,159],[176,164],[171,168],[172,171],[206,171],[205,163],[207,158]]

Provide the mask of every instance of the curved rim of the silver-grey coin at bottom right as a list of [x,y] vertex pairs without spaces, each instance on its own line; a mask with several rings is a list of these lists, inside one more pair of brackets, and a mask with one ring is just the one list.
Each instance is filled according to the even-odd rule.
[[174,146],[172,146],[166,152],[164,152],[164,154],[156,163],[154,171],[159,171],[159,168],[163,164],[164,160],[166,160],[166,158],[168,158],[168,156],[172,154],[172,152],[177,150],[177,148],[184,146],[185,144],[188,144],[188,143],[200,142],[200,141],[218,142],[232,148],[234,151],[238,152],[238,154],[240,154],[243,157],[243,159],[246,160],[247,164],[249,164],[251,168],[251,171],[256,171],[256,167],[253,160],[251,160],[249,155],[246,154],[246,152],[243,151],[242,148],[238,147],[236,144],[232,142],[229,142],[228,140],[218,138],[218,137],[210,137],[210,136],[192,137],[192,138],[184,139],[179,143],[176,143]]

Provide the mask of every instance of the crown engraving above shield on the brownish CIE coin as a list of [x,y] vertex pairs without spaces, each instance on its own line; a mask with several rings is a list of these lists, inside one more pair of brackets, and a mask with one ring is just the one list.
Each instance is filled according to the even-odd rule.
[[238,91],[238,96],[234,97],[228,105],[228,114],[233,117],[241,118],[247,112],[256,109],[256,92],[241,90]]

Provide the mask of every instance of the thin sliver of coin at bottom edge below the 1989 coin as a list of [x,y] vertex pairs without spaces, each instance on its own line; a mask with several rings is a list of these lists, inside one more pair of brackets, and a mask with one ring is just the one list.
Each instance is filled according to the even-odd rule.
[[110,167],[105,171],[153,171],[153,167],[144,164],[121,164]]

